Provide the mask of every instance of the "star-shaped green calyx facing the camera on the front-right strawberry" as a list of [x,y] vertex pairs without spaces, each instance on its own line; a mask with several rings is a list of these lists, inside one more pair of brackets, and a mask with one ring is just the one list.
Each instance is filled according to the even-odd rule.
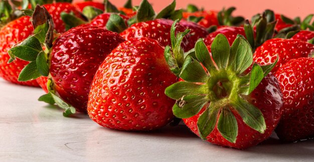
[[200,39],[194,55],[185,58],[179,72],[184,81],[166,88],[165,94],[177,100],[173,106],[175,116],[189,118],[204,110],[197,121],[204,140],[217,128],[225,139],[235,143],[238,135],[235,113],[249,127],[263,133],[266,129],[263,114],[245,96],[259,85],[276,62],[267,66],[253,63],[250,44],[241,35],[231,47],[224,35],[217,35],[211,51],[212,59]]

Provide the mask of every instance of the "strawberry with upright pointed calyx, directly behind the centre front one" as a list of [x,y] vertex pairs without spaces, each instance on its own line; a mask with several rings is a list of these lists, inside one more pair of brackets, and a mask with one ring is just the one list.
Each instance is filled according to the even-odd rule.
[[[174,22],[161,18],[172,18],[174,20],[180,18],[182,14],[180,11],[175,11],[175,8],[176,1],[156,15],[147,0],[143,0],[138,8],[136,23],[120,33],[120,35],[125,40],[146,37],[159,41],[163,46],[171,45],[170,29]],[[133,19],[130,20],[132,21]],[[183,32],[186,28],[178,25],[177,29],[178,32]],[[189,37],[184,38],[182,44],[185,51],[193,48],[193,43],[189,42]]]

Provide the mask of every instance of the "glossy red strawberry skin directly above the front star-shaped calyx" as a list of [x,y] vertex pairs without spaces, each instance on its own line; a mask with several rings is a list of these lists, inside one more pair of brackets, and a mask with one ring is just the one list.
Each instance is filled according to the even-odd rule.
[[232,45],[232,43],[234,42],[234,40],[237,38],[237,35],[240,34],[244,37],[245,36],[245,32],[244,32],[244,28],[243,27],[222,27],[222,28],[218,28],[217,31],[210,33],[204,40],[204,43],[206,46],[210,46],[212,45],[214,39],[216,38],[216,36],[218,34],[223,34],[226,36],[226,38],[228,39],[228,42],[230,44],[230,46]]

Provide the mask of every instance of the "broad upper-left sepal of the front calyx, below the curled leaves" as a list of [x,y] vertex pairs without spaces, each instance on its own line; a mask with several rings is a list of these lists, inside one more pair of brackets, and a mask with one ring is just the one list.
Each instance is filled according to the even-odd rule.
[[209,76],[197,60],[187,57],[182,67],[180,78],[188,82],[206,83]]

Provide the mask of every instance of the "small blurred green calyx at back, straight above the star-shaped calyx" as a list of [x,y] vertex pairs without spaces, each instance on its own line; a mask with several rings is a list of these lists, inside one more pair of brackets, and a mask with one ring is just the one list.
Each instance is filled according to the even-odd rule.
[[231,7],[227,10],[225,8],[222,9],[217,15],[219,25],[226,25],[226,26],[240,26],[244,23],[244,18],[237,16],[233,17],[232,13],[235,11],[236,8]]

